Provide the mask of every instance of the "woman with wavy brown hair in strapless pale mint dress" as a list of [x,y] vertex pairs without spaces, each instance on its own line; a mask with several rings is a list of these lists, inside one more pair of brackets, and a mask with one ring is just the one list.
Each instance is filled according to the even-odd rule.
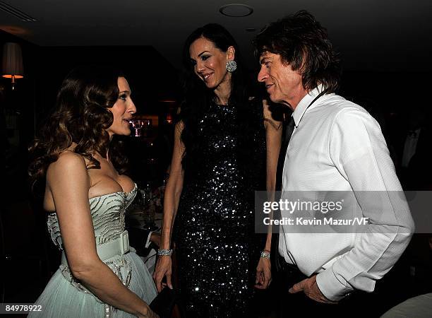
[[81,67],[62,83],[29,168],[44,184],[62,259],[35,303],[42,312],[29,317],[157,317],[148,306],[155,285],[124,229],[137,187],[121,174],[124,158],[112,141],[130,134],[135,112],[128,82],[114,69]]

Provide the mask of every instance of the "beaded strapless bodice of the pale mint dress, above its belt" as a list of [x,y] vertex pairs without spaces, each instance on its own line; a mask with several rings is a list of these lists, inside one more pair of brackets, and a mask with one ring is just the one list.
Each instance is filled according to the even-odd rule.
[[[135,199],[137,189],[135,184],[131,192],[114,192],[89,199],[96,245],[115,240],[124,231],[126,208]],[[49,214],[47,225],[52,241],[59,249],[63,249],[56,213]]]

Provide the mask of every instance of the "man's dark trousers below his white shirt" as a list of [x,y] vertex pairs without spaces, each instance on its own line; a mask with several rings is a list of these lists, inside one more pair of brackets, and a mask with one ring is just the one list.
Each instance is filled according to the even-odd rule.
[[311,300],[303,292],[291,294],[289,288],[308,278],[299,269],[283,260],[273,282],[275,310],[272,317],[379,317],[371,298],[373,294],[355,291],[338,304],[323,304]]

